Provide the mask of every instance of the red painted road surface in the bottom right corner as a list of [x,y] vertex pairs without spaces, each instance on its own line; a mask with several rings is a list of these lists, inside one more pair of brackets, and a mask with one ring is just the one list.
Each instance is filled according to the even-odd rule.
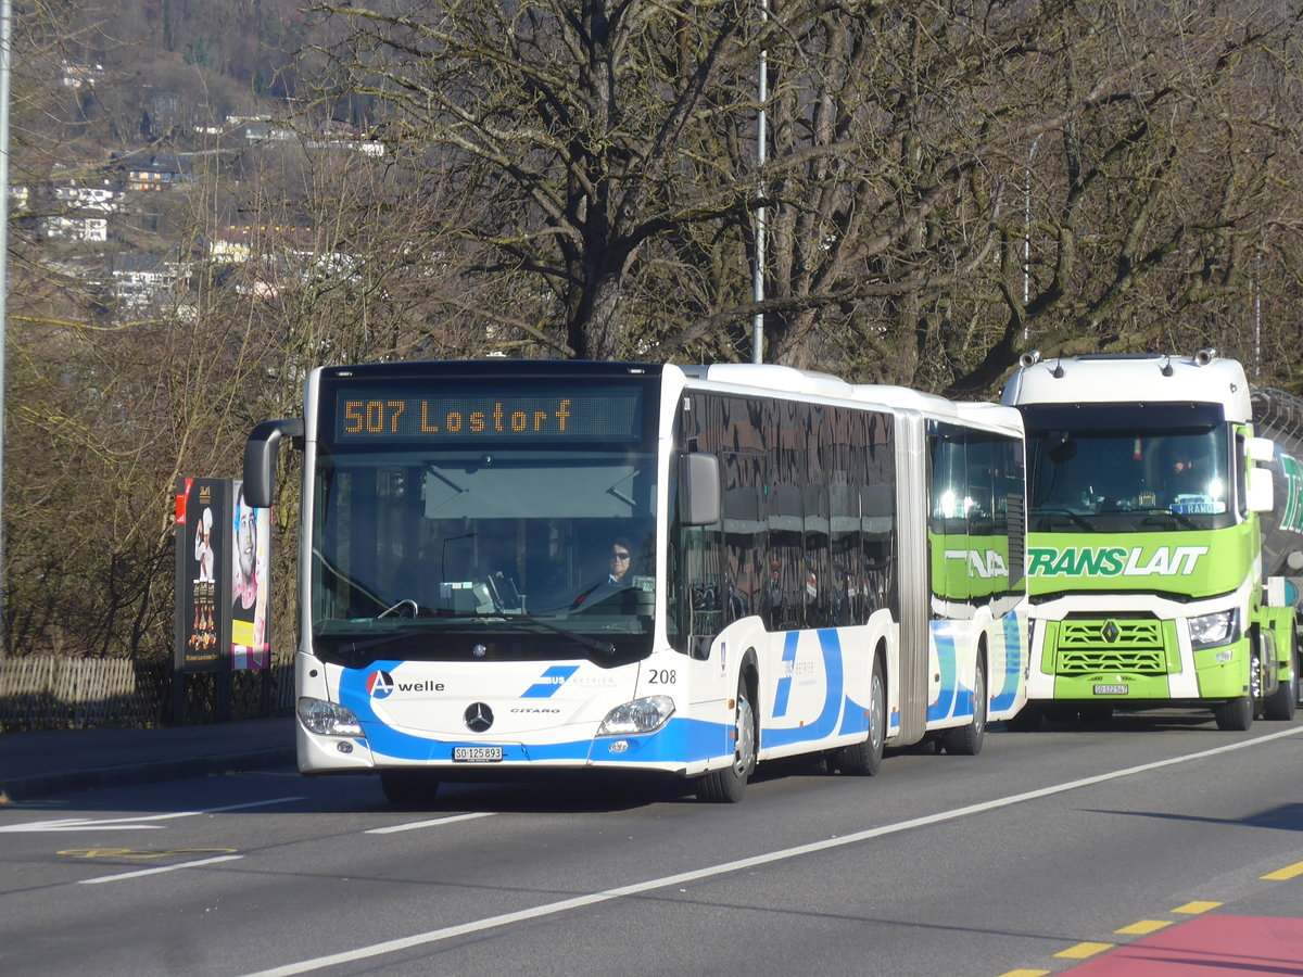
[[1303,920],[1200,916],[1062,970],[1072,977],[1303,977]]

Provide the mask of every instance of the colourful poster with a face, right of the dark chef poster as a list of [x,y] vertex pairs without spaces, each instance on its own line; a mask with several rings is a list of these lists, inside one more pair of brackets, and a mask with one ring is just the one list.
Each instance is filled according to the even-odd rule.
[[267,606],[271,599],[271,509],[246,505],[236,481],[231,507],[231,667],[267,668],[271,642]]

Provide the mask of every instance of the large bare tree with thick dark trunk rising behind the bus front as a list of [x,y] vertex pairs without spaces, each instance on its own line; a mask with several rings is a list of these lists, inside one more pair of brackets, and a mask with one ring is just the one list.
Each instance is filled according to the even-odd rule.
[[721,182],[724,160],[697,151],[711,120],[736,111],[721,79],[747,4],[317,9],[336,36],[322,50],[345,73],[335,91],[374,104],[401,162],[460,159],[457,191],[486,203],[463,231],[493,248],[486,274],[530,276],[554,304],[552,354],[627,353],[622,300],[649,241],[718,223],[745,194]]

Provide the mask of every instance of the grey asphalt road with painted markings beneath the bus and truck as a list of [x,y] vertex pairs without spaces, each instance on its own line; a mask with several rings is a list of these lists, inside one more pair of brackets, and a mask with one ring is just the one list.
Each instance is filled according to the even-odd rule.
[[736,806],[515,784],[395,809],[289,769],[69,795],[0,808],[0,964],[1031,977],[1226,916],[1268,937],[1208,973],[1303,974],[1300,759],[1303,720],[1169,713],[997,727],[868,780],[762,769]]

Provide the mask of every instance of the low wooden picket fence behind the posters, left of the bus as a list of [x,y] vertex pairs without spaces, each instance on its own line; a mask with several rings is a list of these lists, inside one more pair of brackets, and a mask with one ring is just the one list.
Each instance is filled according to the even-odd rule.
[[[169,663],[125,658],[7,658],[0,660],[0,732],[65,729],[91,726],[169,726],[173,720],[173,673]],[[293,670],[232,676],[232,718],[293,709]],[[186,722],[211,719],[216,676],[185,676]]]

